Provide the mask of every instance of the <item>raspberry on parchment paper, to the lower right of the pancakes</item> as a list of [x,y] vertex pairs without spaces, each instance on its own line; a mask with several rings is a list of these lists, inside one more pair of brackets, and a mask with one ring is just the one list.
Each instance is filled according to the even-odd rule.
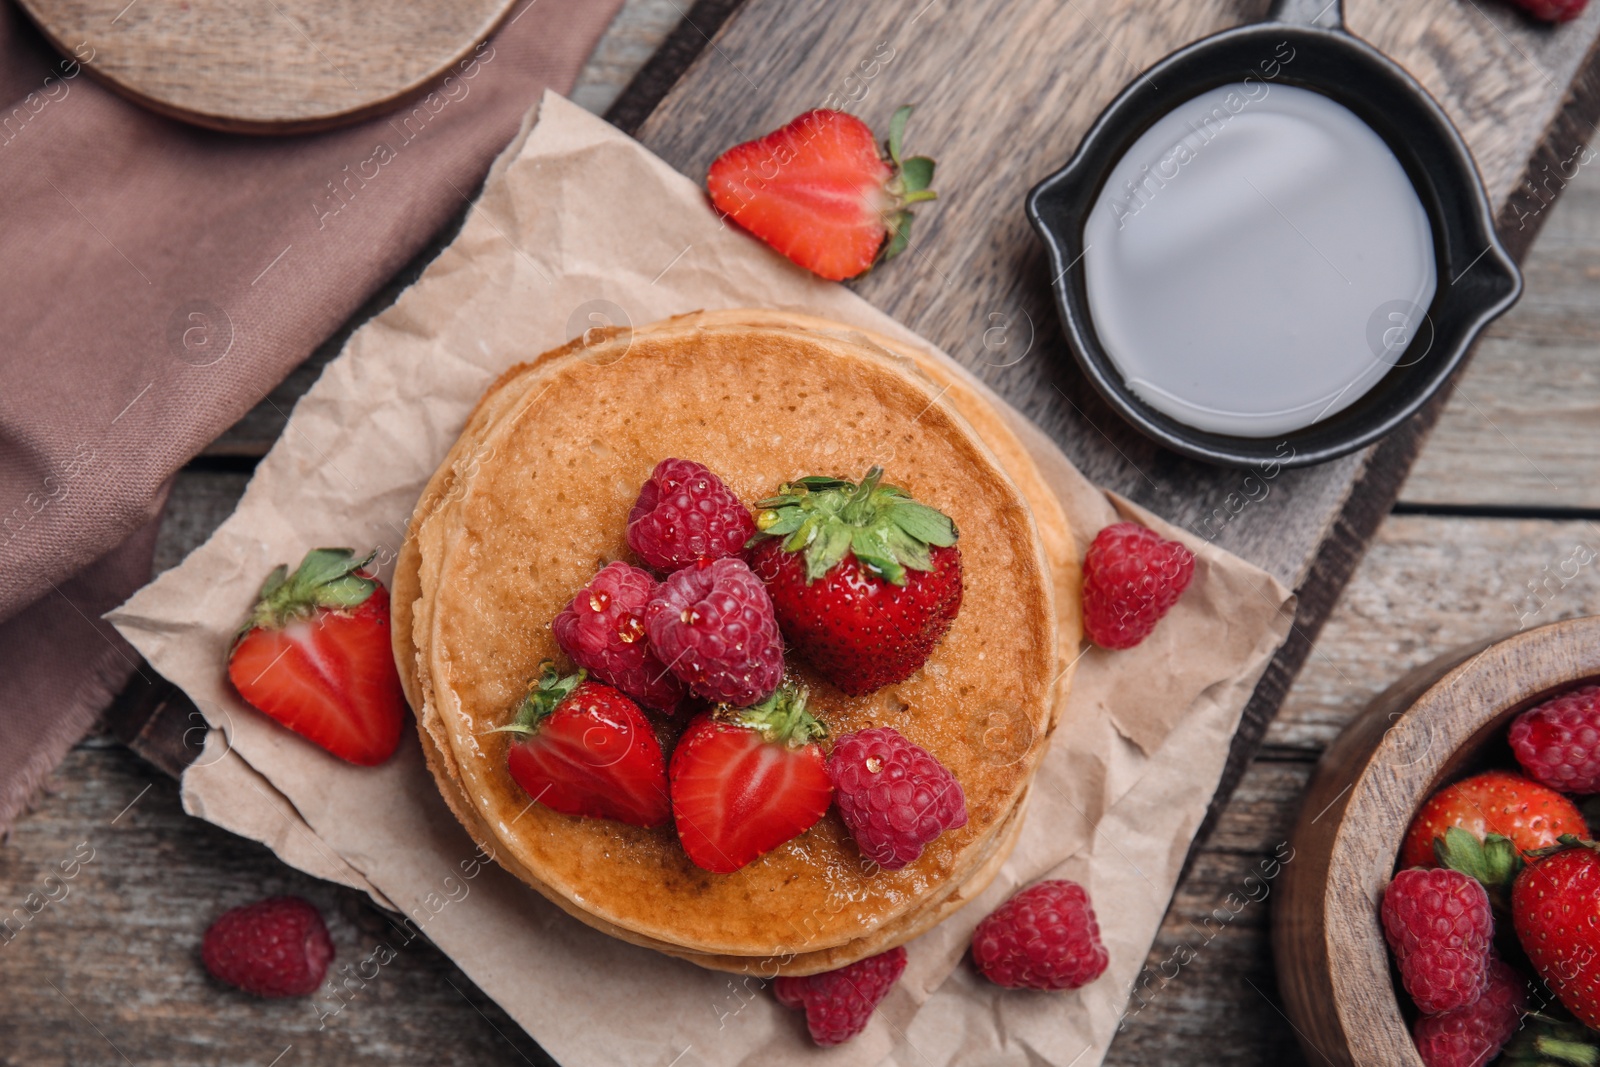
[[1006,989],[1078,989],[1109,961],[1090,894],[1066,878],[1030,885],[973,931],[973,963]]

